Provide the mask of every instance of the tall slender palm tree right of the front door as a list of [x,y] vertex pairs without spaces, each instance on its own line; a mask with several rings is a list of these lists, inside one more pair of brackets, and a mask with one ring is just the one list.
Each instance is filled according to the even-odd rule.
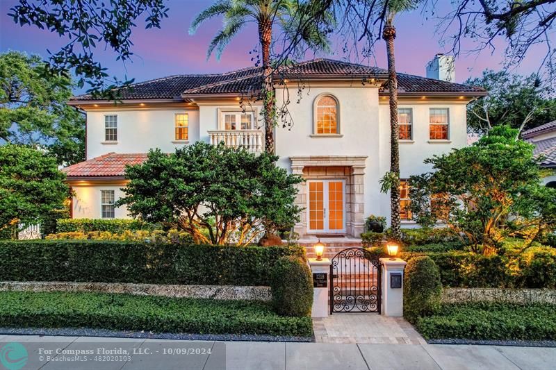
[[[398,124],[398,76],[395,73],[394,17],[400,12],[417,8],[423,0],[383,0],[386,6],[386,23],[382,30],[382,38],[386,42],[386,56],[388,58],[388,91],[390,94],[390,172],[383,179],[390,188],[391,228],[395,238],[400,239],[400,149],[398,138],[400,126]],[[386,178],[387,177],[387,178]]]

